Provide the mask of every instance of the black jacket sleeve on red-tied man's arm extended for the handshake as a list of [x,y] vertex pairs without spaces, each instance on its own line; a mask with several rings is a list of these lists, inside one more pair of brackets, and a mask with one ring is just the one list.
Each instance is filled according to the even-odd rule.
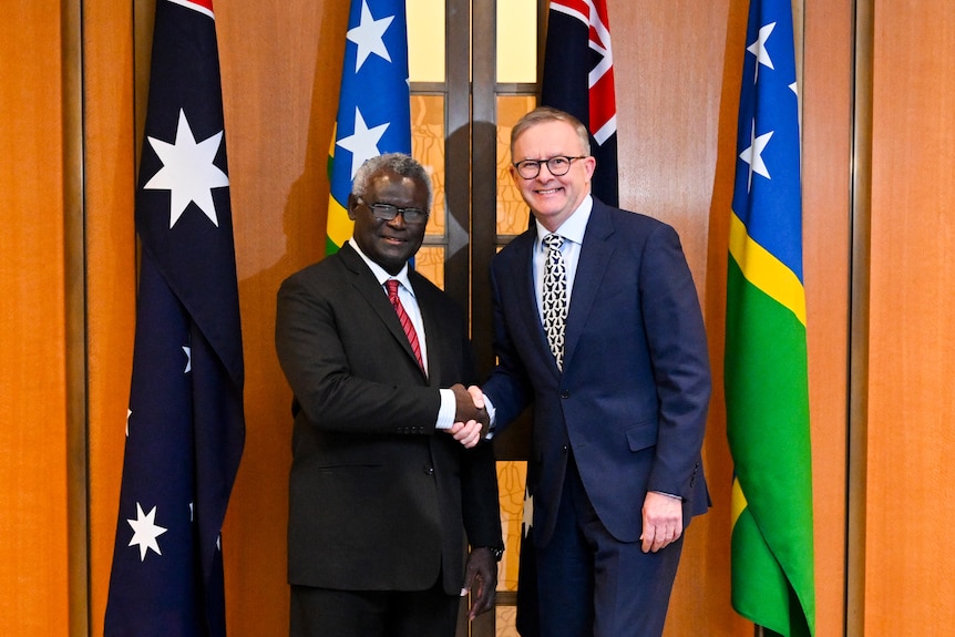
[[294,410],[328,431],[433,433],[438,389],[405,376],[392,337],[371,308],[348,304],[345,290],[329,287],[299,274],[278,292],[276,351]]

